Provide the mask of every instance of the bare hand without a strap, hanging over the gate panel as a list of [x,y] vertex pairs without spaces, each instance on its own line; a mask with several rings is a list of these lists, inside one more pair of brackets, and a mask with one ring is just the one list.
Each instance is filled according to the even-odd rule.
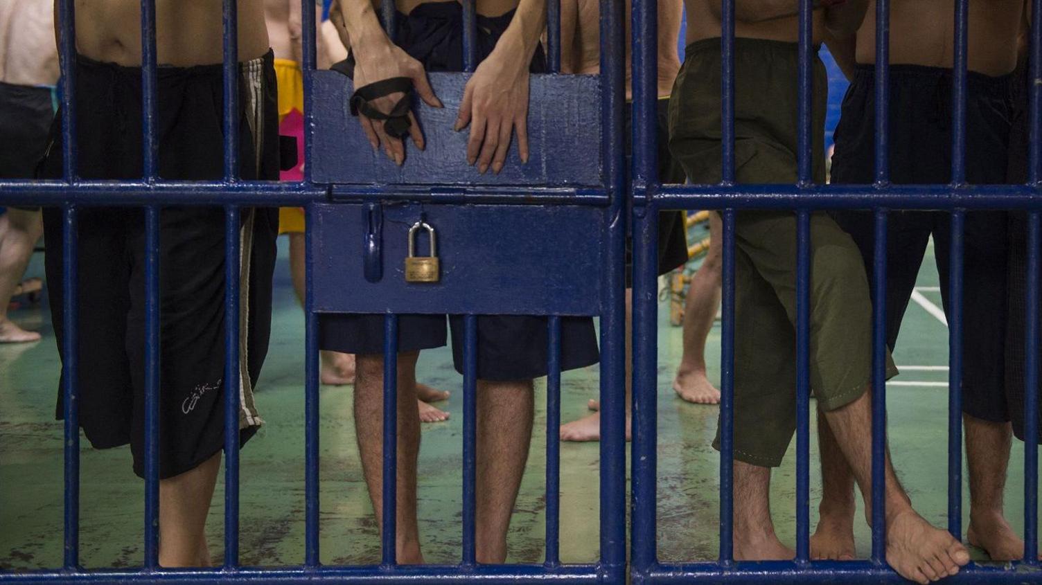
[[493,173],[502,171],[515,128],[521,161],[528,162],[528,60],[496,45],[464,90],[454,129],[468,124],[467,162],[476,162],[478,172],[490,166]]

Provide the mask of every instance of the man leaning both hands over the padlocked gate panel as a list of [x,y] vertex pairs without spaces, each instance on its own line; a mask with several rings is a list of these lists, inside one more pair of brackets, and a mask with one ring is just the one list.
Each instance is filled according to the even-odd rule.
[[[330,20],[354,53],[354,83],[364,87],[394,77],[412,80],[427,105],[441,107],[426,71],[463,69],[463,6],[454,1],[399,0],[397,42],[380,27],[378,9],[369,0],[339,0]],[[477,6],[480,61],[467,82],[454,124],[470,126],[468,160],[477,172],[498,173],[517,132],[521,160],[528,158],[526,118],[528,76],[545,69],[540,36],[545,25],[545,0],[482,0]],[[493,48],[494,47],[494,48]],[[388,113],[402,94],[376,98],[369,104]],[[420,126],[408,115],[411,142],[423,148]],[[374,149],[405,161],[404,144],[379,120],[362,118]],[[453,156],[446,153],[446,156]],[[381,519],[382,467],[380,440],[383,389],[382,315],[323,315],[323,349],[354,353],[357,382],[354,419],[363,469],[377,522]],[[463,317],[450,317],[453,361],[463,372]],[[416,522],[416,463],[420,447],[416,414],[416,359],[419,351],[445,344],[443,315],[401,315],[398,320],[398,478],[397,560],[422,563]],[[506,559],[506,533],[517,498],[532,426],[532,379],[546,375],[545,317],[480,315],[477,317],[477,562]],[[562,320],[562,370],[597,361],[593,321]]]

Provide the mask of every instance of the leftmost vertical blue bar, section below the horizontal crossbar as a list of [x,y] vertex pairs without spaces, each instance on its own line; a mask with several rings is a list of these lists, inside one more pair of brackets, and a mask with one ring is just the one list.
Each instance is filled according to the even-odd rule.
[[76,238],[79,225],[76,208],[67,206],[61,214],[61,379],[65,417],[65,568],[79,566],[79,303]]

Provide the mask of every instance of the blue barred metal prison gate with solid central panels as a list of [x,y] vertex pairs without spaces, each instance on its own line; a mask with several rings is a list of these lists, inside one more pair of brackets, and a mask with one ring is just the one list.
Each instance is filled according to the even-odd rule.
[[[225,177],[221,181],[178,182],[156,174],[156,55],[155,4],[142,0],[144,176],[134,181],[84,181],[76,176],[76,130],[73,99],[75,57],[74,0],[58,0],[59,53],[63,62],[61,107],[65,179],[0,181],[0,204],[53,205],[64,209],[64,340],[66,367],[77,368],[76,238],[77,211],[99,205],[143,207],[146,223],[146,466],[145,564],[133,569],[86,571],[79,565],[79,430],[76,380],[65,377],[65,559],[61,567],[29,573],[0,573],[0,582],[258,582],[290,583],[381,582],[486,583],[569,582],[635,583],[686,582],[898,582],[885,562],[883,462],[886,395],[883,383],[885,308],[873,307],[873,474],[872,555],[866,561],[828,562],[809,559],[809,443],[810,385],[808,364],[810,212],[824,208],[865,208],[875,211],[874,282],[886,284],[887,213],[890,209],[943,209],[951,212],[950,402],[949,402],[949,530],[962,536],[961,522],[961,372],[962,356],[962,226],[969,209],[1002,208],[1028,211],[1027,335],[1025,392],[1024,540],[1025,559],[1006,567],[969,566],[952,578],[965,583],[1042,583],[1035,551],[1037,534],[1037,397],[1039,249],[1042,245],[1042,194],[1039,190],[1040,111],[1042,111],[1042,16],[1035,2],[1031,44],[1029,180],[1023,185],[969,188],[963,172],[965,153],[965,96],[967,15],[969,0],[956,8],[956,76],[953,83],[952,182],[943,185],[895,186],[888,182],[887,100],[888,69],[876,72],[876,175],[864,186],[816,185],[811,177],[811,0],[800,4],[799,69],[799,182],[795,185],[736,185],[734,158],[733,46],[734,3],[723,2],[722,107],[723,181],[715,185],[662,184],[655,164],[655,43],[656,2],[635,0],[632,11],[634,158],[632,180],[624,179],[623,3],[600,0],[601,75],[561,76],[560,0],[548,0],[548,45],[551,73],[534,76],[529,133],[531,161],[507,166],[499,176],[462,173],[462,161],[437,159],[444,149],[462,151],[462,135],[442,132],[451,126],[446,110],[420,104],[418,117],[427,122],[432,148],[413,152],[410,162],[396,168],[373,155],[346,112],[351,87],[343,77],[316,71],[315,12],[312,0],[302,0],[305,70],[305,179],[298,183],[238,179],[239,135],[237,3],[223,0],[225,79]],[[476,66],[474,1],[464,0],[466,70]],[[888,62],[889,0],[876,4],[876,35],[882,42],[876,61]],[[384,24],[393,30],[394,4],[383,0]],[[430,74],[436,92],[460,96],[463,74]],[[582,100],[589,95],[599,100]],[[555,130],[566,124],[566,131]],[[571,152],[599,156],[576,162]],[[348,163],[338,153],[350,152]],[[516,152],[512,154],[516,160]],[[569,164],[564,164],[567,160]],[[361,161],[361,163],[359,163]],[[464,181],[464,178],[467,181]],[[476,180],[475,180],[476,179]],[[629,198],[629,199],[627,199]],[[624,443],[624,250],[626,203],[631,203],[634,234],[634,443],[631,449],[631,533],[626,551]],[[242,206],[304,206],[307,214],[306,380],[305,380],[305,557],[297,566],[259,568],[239,562],[239,450],[237,392],[225,392],[225,551],[222,566],[209,569],[158,567],[157,512],[157,395],[159,388],[158,331],[158,213],[163,205],[219,205],[226,213],[226,377],[238,384],[239,370],[239,209]],[[655,552],[655,356],[656,356],[656,222],[659,209],[712,208],[723,214],[723,336],[722,448],[720,459],[720,554],[716,562],[663,564]],[[797,550],[793,561],[736,562],[731,552],[731,470],[735,324],[735,219],[738,210],[791,209],[798,218],[797,270]],[[441,234],[443,279],[439,285],[417,288],[400,278],[386,276],[388,262],[404,256],[405,224],[426,217]],[[384,221],[387,220],[387,221]],[[487,237],[488,226],[502,230]],[[387,232],[387,233],[384,233]],[[567,238],[567,246],[562,246]],[[523,243],[523,244],[521,244]],[[490,262],[485,251],[522,245],[516,264]],[[466,253],[461,252],[466,249]],[[593,283],[581,279],[576,266],[597,270]],[[398,320],[396,313],[465,314],[463,552],[457,565],[398,565],[395,563],[395,483],[383,485],[382,562],[369,566],[328,566],[319,562],[319,380],[318,315],[322,312],[384,314],[386,367],[395,371]],[[546,557],[543,564],[480,565],[475,562],[474,442],[476,391],[476,315],[514,312],[549,316],[547,382],[547,514]],[[557,551],[559,439],[561,390],[561,316],[596,315],[601,323],[600,559],[595,564],[562,564]],[[395,477],[396,381],[384,380],[383,477]]]

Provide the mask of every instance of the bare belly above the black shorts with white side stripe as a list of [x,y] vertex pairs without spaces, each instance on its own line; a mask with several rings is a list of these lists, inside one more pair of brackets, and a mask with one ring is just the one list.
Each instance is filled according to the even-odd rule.
[[[155,11],[159,63],[189,67],[223,60],[221,2],[156,0]],[[264,3],[239,0],[239,59],[259,57],[268,47]],[[130,0],[76,0],[76,48],[95,60],[140,66],[141,5]]]

